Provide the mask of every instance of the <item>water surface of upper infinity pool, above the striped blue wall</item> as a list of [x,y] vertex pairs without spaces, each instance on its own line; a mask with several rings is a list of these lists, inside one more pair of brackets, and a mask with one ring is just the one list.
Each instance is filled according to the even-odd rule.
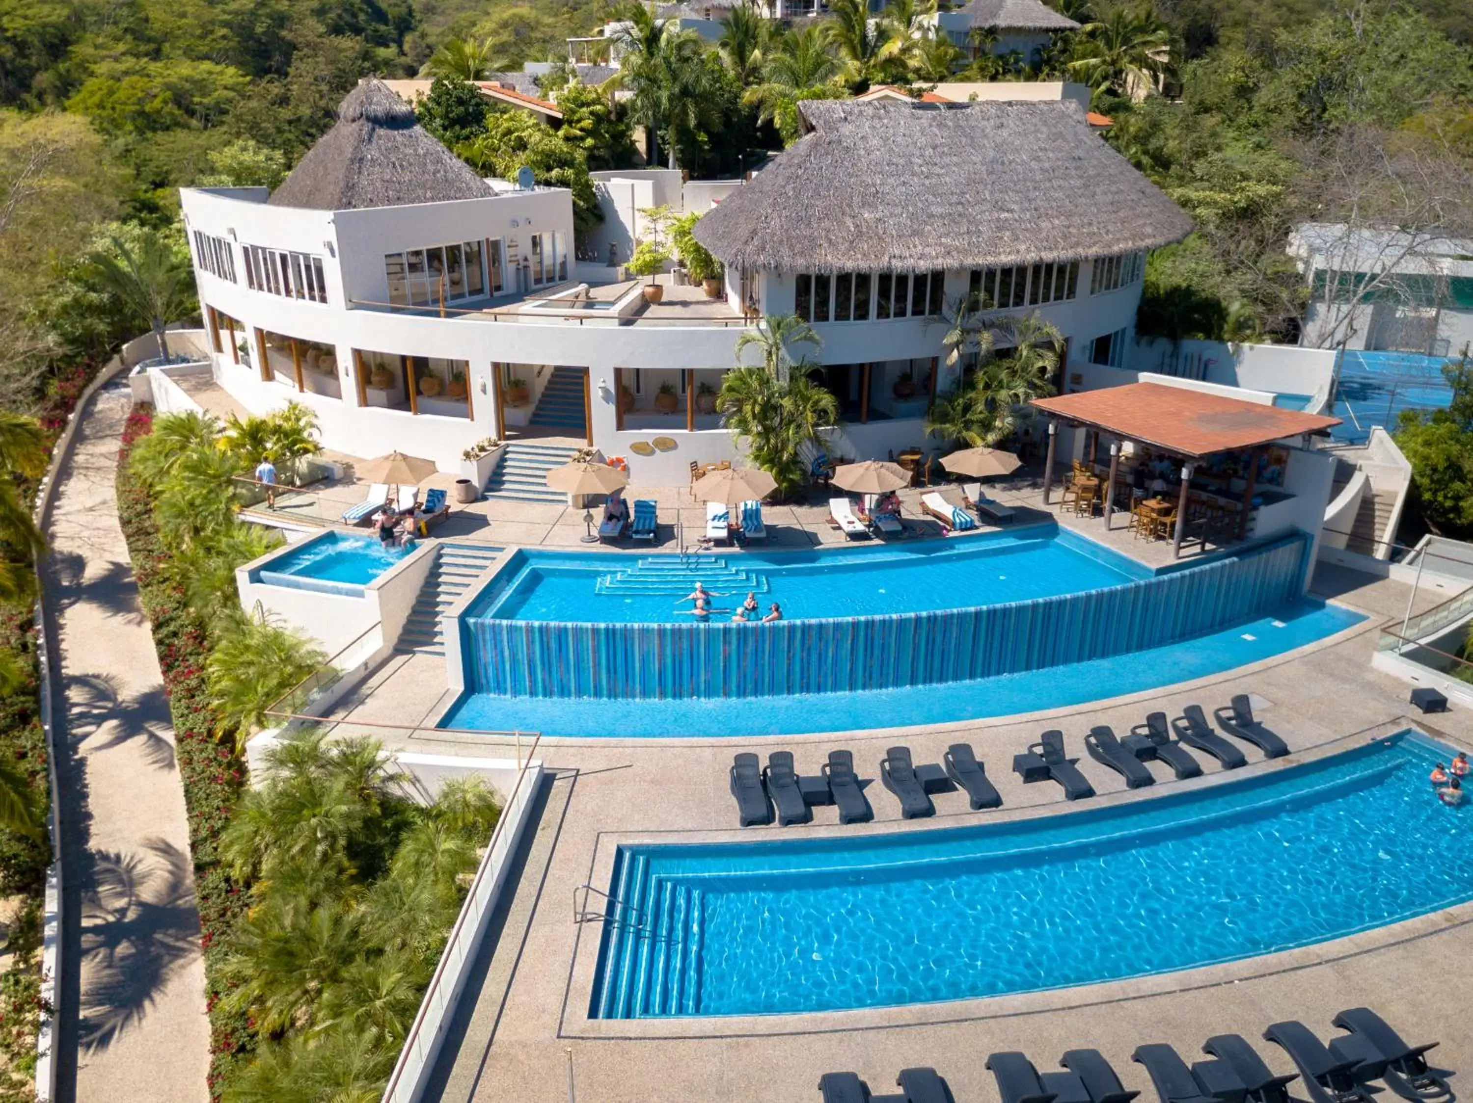
[[1153,571],[1055,526],[956,540],[829,551],[613,557],[523,549],[470,617],[657,624],[689,623],[682,601],[700,582],[729,620],[747,593],[788,620],[873,617],[997,605],[1117,586]]

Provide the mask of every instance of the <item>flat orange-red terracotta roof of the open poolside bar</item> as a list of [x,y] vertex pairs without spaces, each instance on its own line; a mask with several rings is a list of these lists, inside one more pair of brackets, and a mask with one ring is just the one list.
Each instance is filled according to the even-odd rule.
[[1081,390],[1034,399],[1033,405],[1044,414],[1190,458],[1239,452],[1340,424],[1335,417],[1161,383]]

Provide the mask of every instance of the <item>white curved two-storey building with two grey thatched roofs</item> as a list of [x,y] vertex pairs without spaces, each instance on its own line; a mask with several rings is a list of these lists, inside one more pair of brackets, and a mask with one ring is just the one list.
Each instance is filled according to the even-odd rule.
[[[1146,252],[1192,227],[1069,102],[803,118],[697,227],[726,265],[719,296],[664,275],[650,305],[579,264],[569,191],[480,180],[365,81],[270,197],[183,191],[214,376],[252,412],[303,402],[349,455],[455,471],[485,437],[557,433],[675,484],[738,455],[713,396],[754,320],[795,312],[822,346],[794,353],[843,406],[835,451],[884,458],[957,381],[943,311],[972,292],[1037,311],[1068,359],[1118,365]],[[641,455],[655,434],[673,446]]]

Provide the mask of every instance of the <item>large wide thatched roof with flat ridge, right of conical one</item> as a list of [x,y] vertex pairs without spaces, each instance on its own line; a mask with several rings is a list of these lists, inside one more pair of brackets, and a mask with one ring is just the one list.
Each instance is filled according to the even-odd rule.
[[804,100],[812,133],[695,224],[723,264],[797,272],[1078,261],[1192,219],[1072,102]]

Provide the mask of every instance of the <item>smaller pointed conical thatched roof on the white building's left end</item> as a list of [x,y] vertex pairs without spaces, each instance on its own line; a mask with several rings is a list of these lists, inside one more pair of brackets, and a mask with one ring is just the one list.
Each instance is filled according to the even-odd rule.
[[485,199],[491,187],[414,121],[414,109],[368,78],[343,97],[337,122],[268,200],[274,206],[365,206]]

